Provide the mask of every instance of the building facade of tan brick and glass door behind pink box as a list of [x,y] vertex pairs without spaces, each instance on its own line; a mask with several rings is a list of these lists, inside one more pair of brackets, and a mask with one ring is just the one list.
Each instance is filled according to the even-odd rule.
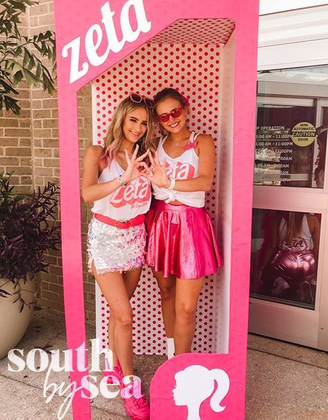
[[[328,350],[327,23],[324,1],[260,1],[250,273],[250,331],[322,350]],[[23,27],[28,35],[54,29],[53,1],[29,9]],[[19,95],[21,115],[0,114],[0,170],[14,171],[17,190],[27,191],[58,183],[58,107],[55,95],[35,87],[22,85]],[[82,161],[92,141],[90,86],[79,95],[79,129]],[[287,217],[302,217],[308,240],[300,246],[313,258],[307,276],[267,272],[274,257],[269,245],[279,242],[271,226],[275,221],[282,230]],[[89,219],[90,206],[82,203],[84,261]],[[63,313],[60,250],[48,262],[49,273],[38,278],[38,304]],[[84,272],[86,318],[94,322],[95,286],[86,264]]]

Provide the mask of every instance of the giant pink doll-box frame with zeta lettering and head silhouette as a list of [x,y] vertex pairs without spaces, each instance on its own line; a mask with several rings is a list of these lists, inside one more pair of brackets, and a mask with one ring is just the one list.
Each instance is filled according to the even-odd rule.
[[[227,189],[222,192],[224,204],[218,206],[225,262],[223,278],[228,284],[228,297],[223,303],[228,313],[228,340],[223,346],[224,353],[179,355],[159,367],[150,389],[151,418],[242,420],[245,418],[258,0],[55,0],[67,345],[68,349],[77,349],[85,343],[78,90],[175,21],[186,19],[229,19],[236,24],[225,58],[227,65],[229,61],[233,63],[225,80],[227,86],[231,85],[232,94],[227,94],[227,100],[221,102],[220,117],[220,143],[223,144],[220,165],[225,168],[220,177],[228,179],[225,186],[229,187],[228,193]],[[223,93],[228,89],[225,84]],[[70,381],[79,387],[85,372],[75,368],[76,362],[74,357]],[[90,400],[80,393],[73,399],[73,418],[91,419]]]

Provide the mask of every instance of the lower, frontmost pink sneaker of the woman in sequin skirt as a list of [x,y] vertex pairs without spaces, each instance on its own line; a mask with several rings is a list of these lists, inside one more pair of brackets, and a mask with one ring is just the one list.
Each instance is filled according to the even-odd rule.
[[121,391],[125,400],[125,411],[132,420],[149,420],[150,410],[144,394],[141,393],[141,381],[134,377]]

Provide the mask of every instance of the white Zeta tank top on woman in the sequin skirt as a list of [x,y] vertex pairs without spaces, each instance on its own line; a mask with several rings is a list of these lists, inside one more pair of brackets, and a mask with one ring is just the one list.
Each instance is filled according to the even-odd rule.
[[[112,181],[123,173],[125,173],[124,169],[115,159],[112,159],[110,166],[106,166],[102,171],[98,183]],[[91,211],[125,222],[137,215],[147,213],[151,199],[150,183],[144,176],[141,176],[126,186],[117,188],[106,197],[96,200]]]

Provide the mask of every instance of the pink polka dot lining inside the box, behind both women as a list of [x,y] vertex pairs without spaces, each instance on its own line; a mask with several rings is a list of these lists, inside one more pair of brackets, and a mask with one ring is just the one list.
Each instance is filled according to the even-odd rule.
[[[216,23],[216,21],[213,22]],[[233,28],[231,21],[227,21],[227,27]],[[174,36],[174,33],[171,33],[171,28],[166,31],[166,36],[172,36],[172,41],[179,39],[177,35]],[[213,36],[214,33],[213,26]],[[166,38],[163,39],[166,40]],[[190,129],[211,134],[217,141],[221,48],[223,47],[218,43],[213,45],[147,43],[97,77],[92,91],[93,99],[95,99],[95,144],[102,144],[112,112],[120,100],[129,95],[129,92],[139,92],[147,97],[154,97],[156,92],[164,87],[174,87],[189,98]],[[215,178],[213,188],[206,196],[206,209],[213,222],[215,222],[216,202]],[[213,349],[214,281],[217,281],[215,276],[206,279],[199,298],[196,336],[192,346],[194,352],[211,352]],[[101,301],[105,300],[102,298]],[[164,354],[166,340],[159,290],[157,282],[152,277],[152,271],[147,266],[142,270],[139,286],[132,298],[132,306],[134,308],[134,352],[149,355]],[[107,341],[107,317],[108,308],[104,303],[101,305],[100,313],[97,314],[97,324],[101,325],[101,339],[104,346]]]

